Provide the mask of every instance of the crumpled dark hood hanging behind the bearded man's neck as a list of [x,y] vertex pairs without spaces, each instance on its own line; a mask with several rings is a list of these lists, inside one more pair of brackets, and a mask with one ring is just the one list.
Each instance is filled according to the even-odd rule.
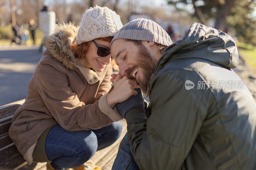
[[193,23],[184,38],[167,47],[155,71],[172,60],[200,58],[227,68],[238,65],[238,51],[233,38],[212,27]]

